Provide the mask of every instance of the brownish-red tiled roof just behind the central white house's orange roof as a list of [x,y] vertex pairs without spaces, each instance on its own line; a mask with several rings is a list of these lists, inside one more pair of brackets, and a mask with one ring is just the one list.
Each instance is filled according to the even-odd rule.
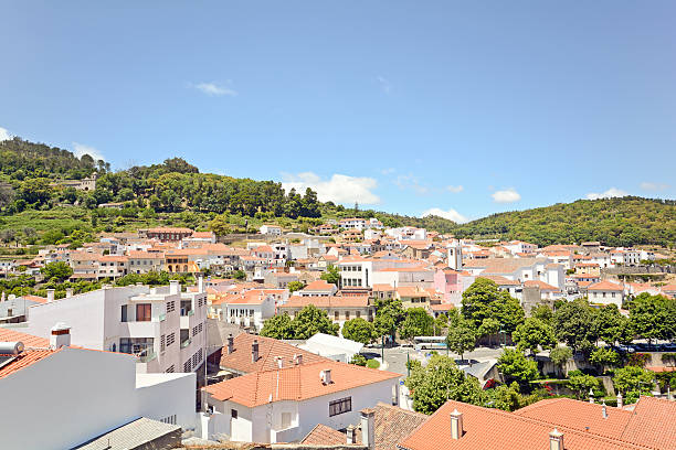
[[[252,362],[251,357],[251,344],[254,340],[258,341],[258,361],[255,363]],[[228,354],[228,346],[223,347],[220,365],[225,369],[234,369],[245,374],[272,371],[277,367],[275,357],[281,356],[286,367],[294,363],[294,355],[296,354],[303,355],[304,364],[329,361],[324,356],[316,355],[276,339],[241,333],[234,338],[234,351],[231,354]]]

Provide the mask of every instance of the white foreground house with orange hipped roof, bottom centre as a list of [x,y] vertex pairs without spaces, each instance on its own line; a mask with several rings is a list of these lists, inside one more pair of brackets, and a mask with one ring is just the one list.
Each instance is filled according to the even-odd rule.
[[255,372],[203,388],[213,414],[209,437],[245,442],[294,442],[318,424],[344,429],[378,401],[397,403],[399,377],[391,372],[321,361]]

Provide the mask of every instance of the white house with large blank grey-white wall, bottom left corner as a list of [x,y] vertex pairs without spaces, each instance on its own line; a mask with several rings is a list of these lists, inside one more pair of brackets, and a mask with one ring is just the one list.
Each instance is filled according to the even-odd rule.
[[139,417],[196,428],[196,374],[137,374],[131,355],[71,347],[67,328],[54,332],[49,349],[1,356],[0,447],[70,449]]

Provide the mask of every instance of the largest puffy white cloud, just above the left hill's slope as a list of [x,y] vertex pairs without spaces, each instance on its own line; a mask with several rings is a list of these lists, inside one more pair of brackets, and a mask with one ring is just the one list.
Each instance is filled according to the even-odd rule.
[[313,172],[303,172],[296,175],[284,174],[282,188],[287,192],[294,188],[296,192],[304,193],[307,188],[317,192],[321,202],[334,202],[360,205],[380,203],[380,197],[371,192],[378,186],[378,181],[367,176],[350,176],[334,173],[328,180],[323,180]]

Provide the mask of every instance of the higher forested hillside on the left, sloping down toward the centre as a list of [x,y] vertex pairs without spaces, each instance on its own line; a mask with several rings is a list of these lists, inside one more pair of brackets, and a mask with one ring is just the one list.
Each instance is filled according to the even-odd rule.
[[[94,172],[97,174],[95,191],[50,185],[59,180],[80,180]],[[102,203],[114,202],[125,203],[122,213],[97,208]],[[345,208],[331,202],[319,202],[317,193],[309,189],[305,192],[285,192],[282,183],[274,181],[200,173],[198,168],[180,158],[167,159],[161,164],[112,172],[108,163],[95,161],[87,154],[76,158],[67,150],[20,138],[0,142],[0,210],[3,215],[63,210],[67,205],[77,206],[78,210],[84,207],[85,215],[99,216],[104,223],[104,215],[123,216],[116,223],[105,225],[106,231],[142,226],[139,223],[141,219],[173,224],[182,221],[189,226],[205,227],[215,215],[225,216],[221,217],[224,218],[221,223],[232,224],[231,229],[244,224],[246,217],[252,218],[249,221],[252,225],[279,222],[303,231],[329,217],[352,215],[378,217],[387,226],[425,226],[443,233],[455,226],[453,222],[441,217],[419,218]],[[76,213],[83,215],[82,211]],[[183,213],[191,215],[186,216]],[[101,222],[92,219],[95,224],[92,232],[102,227]],[[67,234],[67,231],[64,233]]]

